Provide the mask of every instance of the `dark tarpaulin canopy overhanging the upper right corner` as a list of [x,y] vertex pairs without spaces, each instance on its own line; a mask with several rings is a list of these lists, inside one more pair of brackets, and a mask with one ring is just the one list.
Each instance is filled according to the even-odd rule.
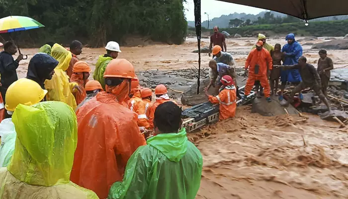
[[348,0],[220,0],[249,5],[309,20],[348,14]]

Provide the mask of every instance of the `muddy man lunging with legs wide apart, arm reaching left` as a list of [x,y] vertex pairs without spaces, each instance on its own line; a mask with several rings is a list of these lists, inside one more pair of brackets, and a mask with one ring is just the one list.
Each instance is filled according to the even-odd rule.
[[289,100],[286,103],[282,104],[282,106],[288,106],[292,102],[293,97],[295,96],[296,93],[299,93],[306,88],[312,88],[314,93],[319,97],[319,99],[323,101],[325,105],[328,107],[329,113],[331,112],[330,104],[328,100],[325,98],[321,89],[322,84],[321,84],[321,79],[319,77],[319,74],[313,65],[307,64],[306,57],[301,56],[298,59],[298,64],[291,65],[291,66],[283,65],[283,66],[276,66],[276,67],[281,67],[281,69],[283,70],[296,69],[299,71],[302,77],[301,83],[297,85],[297,87],[294,90],[291,91]]

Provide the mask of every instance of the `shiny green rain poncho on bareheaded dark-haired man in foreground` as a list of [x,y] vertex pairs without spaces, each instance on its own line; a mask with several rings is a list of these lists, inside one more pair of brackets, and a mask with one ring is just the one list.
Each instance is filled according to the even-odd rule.
[[156,135],[133,153],[123,182],[112,185],[108,199],[194,199],[202,165],[202,155],[184,128]]

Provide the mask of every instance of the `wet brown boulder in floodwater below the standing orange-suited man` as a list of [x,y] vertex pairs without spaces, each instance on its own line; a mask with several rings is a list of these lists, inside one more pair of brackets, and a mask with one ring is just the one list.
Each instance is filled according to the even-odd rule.
[[289,105],[288,107],[281,106],[286,100],[279,101],[277,97],[272,96],[272,101],[267,102],[265,98],[255,98],[253,101],[252,112],[259,113],[262,116],[276,116],[286,114],[286,110],[289,114],[297,114],[296,109]]

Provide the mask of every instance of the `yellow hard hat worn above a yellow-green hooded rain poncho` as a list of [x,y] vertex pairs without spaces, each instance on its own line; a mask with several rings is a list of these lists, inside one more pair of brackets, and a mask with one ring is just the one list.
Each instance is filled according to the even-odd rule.
[[33,105],[45,98],[47,90],[43,90],[36,82],[21,78],[13,82],[6,91],[5,108],[14,111],[18,104]]

